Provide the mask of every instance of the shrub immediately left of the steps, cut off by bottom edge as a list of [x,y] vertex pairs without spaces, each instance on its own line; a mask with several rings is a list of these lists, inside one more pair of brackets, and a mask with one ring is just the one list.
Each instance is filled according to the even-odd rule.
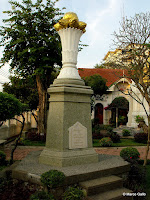
[[63,194],[62,200],[82,200],[83,191],[79,187],[69,187]]

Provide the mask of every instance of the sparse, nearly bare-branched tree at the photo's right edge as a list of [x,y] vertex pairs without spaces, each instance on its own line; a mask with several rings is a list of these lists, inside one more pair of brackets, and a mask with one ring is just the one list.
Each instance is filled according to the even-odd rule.
[[[125,94],[143,106],[148,119],[148,140],[144,161],[146,165],[150,144],[150,114],[145,106],[146,102],[150,107],[150,12],[123,18],[119,31],[114,32],[114,45],[118,54],[107,59],[105,64],[127,72],[123,77],[132,80],[132,87]],[[137,89],[141,97],[137,95]]]

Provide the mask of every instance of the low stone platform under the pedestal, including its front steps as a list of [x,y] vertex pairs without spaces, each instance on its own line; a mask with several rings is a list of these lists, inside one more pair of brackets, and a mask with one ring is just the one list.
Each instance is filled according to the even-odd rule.
[[[123,192],[132,192],[123,188],[122,179],[119,178],[130,170],[130,164],[120,156],[98,155],[99,161],[97,163],[55,167],[39,164],[40,153],[41,151],[34,151],[28,154],[11,171],[12,178],[41,184],[41,174],[54,169],[65,174],[64,187],[79,184],[82,188],[85,188],[88,195],[87,199],[124,199]],[[109,198],[107,198],[107,195]]]

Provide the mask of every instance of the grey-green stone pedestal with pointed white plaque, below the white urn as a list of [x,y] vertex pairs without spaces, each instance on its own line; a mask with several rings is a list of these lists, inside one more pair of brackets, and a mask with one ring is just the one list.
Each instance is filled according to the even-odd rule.
[[82,80],[56,79],[48,93],[46,148],[39,162],[58,167],[98,162],[92,147],[91,88]]

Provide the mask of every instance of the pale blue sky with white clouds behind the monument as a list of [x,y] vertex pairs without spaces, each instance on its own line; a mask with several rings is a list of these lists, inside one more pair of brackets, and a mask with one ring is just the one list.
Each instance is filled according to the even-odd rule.
[[[36,0],[32,0],[35,2]],[[45,0],[44,0],[45,1]],[[17,0],[22,2],[22,0]],[[10,10],[8,0],[0,0],[0,26],[2,19],[7,18],[3,11]],[[133,17],[137,13],[150,11],[149,0],[59,0],[57,7],[66,7],[64,12],[75,12],[80,21],[86,22],[86,32],[81,43],[87,44],[78,54],[77,67],[93,68],[100,64],[108,51],[113,50],[113,32],[118,31],[122,17]],[[0,48],[0,58],[2,57]],[[9,65],[0,69],[1,84],[8,82]]]

